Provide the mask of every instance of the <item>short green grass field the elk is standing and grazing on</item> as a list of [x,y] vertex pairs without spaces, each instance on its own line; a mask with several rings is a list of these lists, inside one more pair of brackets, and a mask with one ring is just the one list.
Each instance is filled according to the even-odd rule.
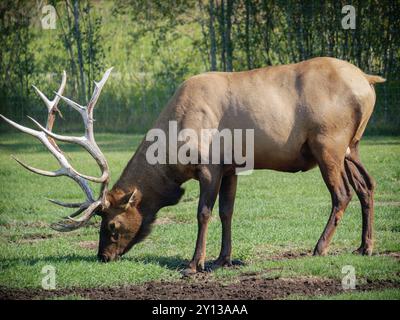
[[[99,134],[97,141],[116,180],[132,156],[141,136]],[[61,145],[79,171],[96,174],[97,166],[78,147]],[[69,210],[46,198],[77,201],[80,189],[67,178],[34,175],[10,159],[14,154],[43,169],[57,163],[39,142],[22,134],[0,137],[0,287],[40,288],[45,265],[57,271],[57,288],[115,287],[152,280],[178,281],[180,269],[191,258],[197,232],[198,187],[185,184],[177,206],[158,214],[153,232],[122,260],[96,261],[99,218],[72,233],[57,233],[49,224]],[[372,257],[353,255],[361,236],[361,212],[354,196],[338,227],[327,257],[312,257],[330,212],[330,195],[317,169],[306,173],[258,171],[239,179],[233,218],[233,259],[243,265],[218,269],[208,281],[229,283],[242,274],[267,278],[329,278],[339,283],[342,267],[352,265],[357,283],[391,280],[400,283],[400,138],[366,137],[361,155],[377,181],[375,197],[375,252]],[[208,261],[219,253],[220,223],[217,211],[209,226]],[[200,280],[201,281],[201,280]],[[397,286],[399,287],[399,286]],[[71,298],[71,297],[67,297]],[[72,296],[79,298],[79,296]],[[309,298],[305,296],[296,299]],[[356,291],[335,299],[399,299],[400,289]]]

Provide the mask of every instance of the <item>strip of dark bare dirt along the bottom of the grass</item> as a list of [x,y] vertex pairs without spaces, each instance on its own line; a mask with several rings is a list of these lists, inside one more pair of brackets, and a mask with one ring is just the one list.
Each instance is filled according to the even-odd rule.
[[[373,281],[357,287],[359,291],[400,288],[399,282]],[[148,282],[113,288],[72,288],[54,291],[32,289],[9,289],[0,287],[0,299],[48,299],[78,295],[86,299],[106,300],[269,300],[290,295],[333,295],[343,292],[339,280],[321,278],[265,279],[259,275],[241,276],[234,283],[216,281],[179,280],[176,282]]]

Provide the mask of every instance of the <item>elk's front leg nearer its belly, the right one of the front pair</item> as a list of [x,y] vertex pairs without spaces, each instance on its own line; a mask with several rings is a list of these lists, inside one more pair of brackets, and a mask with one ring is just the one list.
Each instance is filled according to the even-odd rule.
[[232,252],[232,215],[235,203],[237,186],[237,175],[229,175],[222,178],[221,188],[219,190],[219,217],[222,224],[222,242],[221,252],[214,267],[231,266]]

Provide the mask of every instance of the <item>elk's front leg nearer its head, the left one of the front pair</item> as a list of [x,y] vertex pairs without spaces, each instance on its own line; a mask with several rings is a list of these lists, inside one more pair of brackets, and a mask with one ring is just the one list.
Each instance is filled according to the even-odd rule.
[[219,166],[202,167],[199,171],[200,199],[197,209],[197,241],[193,258],[184,270],[185,275],[204,270],[208,222],[221,186],[222,170]]

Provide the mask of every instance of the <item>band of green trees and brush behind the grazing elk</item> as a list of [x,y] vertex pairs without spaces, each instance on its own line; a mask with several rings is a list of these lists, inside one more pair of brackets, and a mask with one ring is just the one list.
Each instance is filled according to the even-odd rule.
[[[43,29],[46,4],[56,28]],[[344,30],[342,7],[356,8]],[[240,71],[315,56],[348,60],[388,81],[368,133],[400,133],[399,1],[22,1],[0,4],[0,113],[44,119],[35,84],[51,96],[63,69],[66,95],[84,103],[94,79],[114,66],[96,110],[97,131],[144,132],[177,86],[210,70]],[[56,130],[80,121],[63,108]],[[74,121],[77,120],[77,121]],[[9,130],[3,122],[0,130]]]

